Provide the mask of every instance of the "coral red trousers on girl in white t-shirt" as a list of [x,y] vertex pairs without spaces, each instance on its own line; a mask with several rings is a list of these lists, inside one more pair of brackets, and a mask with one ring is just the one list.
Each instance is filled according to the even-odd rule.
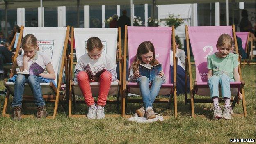
[[[77,80],[78,80],[78,85],[82,91],[82,94],[84,95],[85,103],[88,106],[95,104],[94,98],[92,97],[92,94],[91,94],[91,86],[90,86],[90,82],[94,82],[94,81],[92,81],[91,78],[89,78],[89,76],[85,71],[80,71],[78,73]],[[98,101],[97,101],[98,105],[101,105],[101,106],[106,105],[108,92],[110,90],[111,80],[112,80],[112,75],[110,72],[105,71],[101,74],[98,80],[98,82],[100,82],[100,90],[99,90]]]

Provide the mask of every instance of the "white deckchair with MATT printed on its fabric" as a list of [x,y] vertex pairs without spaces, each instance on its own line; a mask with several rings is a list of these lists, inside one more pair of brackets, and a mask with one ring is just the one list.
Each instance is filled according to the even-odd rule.
[[[62,83],[62,75],[64,70],[64,63],[67,65],[66,59],[66,48],[69,36],[69,26],[68,27],[23,27],[21,26],[21,33],[20,37],[18,38],[18,44],[16,48],[16,53],[14,55],[14,61],[12,65],[12,71],[10,74],[10,78],[16,73],[16,58],[18,57],[18,51],[21,46],[21,39],[26,34],[33,34],[37,38],[37,43],[39,44],[39,49],[43,53],[47,53],[49,57],[52,59],[51,63],[53,65],[53,69],[55,71],[56,79],[54,80],[57,84],[57,87],[50,83],[40,83],[43,98],[46,102],[53,102],[55,103],[53,116],[48,116],[48,118],[55,119],[57,114],[57,108],[59,99],[62,95],[60,95],[60,88]],[[66,77],[67,77],[66,71]],[[4,85],[7,88],[7,94],[5,97],[5,104],[3,108],[3,117],[9,117],[10,115],[7,114],[7,105],[9,100],[9,95],[14,94],[14,82],[7,82],[4,81]],[[33,101],[33,94],[26,83],[24,88],[24,95],[23,95],[23,103],[34,103]],[[31,117],[31,115],[23,115],[23,117]]]

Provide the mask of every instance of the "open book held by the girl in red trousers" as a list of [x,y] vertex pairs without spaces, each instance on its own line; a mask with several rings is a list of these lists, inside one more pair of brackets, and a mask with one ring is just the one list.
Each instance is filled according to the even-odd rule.
[[107,68],[105,66],[105,64],[101,64],[98,66],[92,66],[90,63],[88,63],[85,66],[85,71],[89,70],[91,75],[94,77],[99,77],[101,75],[101,73],[103,73],[104,71],[107,71]]

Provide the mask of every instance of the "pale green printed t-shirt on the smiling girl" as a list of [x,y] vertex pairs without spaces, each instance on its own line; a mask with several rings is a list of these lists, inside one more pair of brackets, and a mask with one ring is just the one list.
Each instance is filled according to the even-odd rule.
[[225,58],[219,58],[215,53],[207,57],[207,68],[216,76],[228,75],[234,79],[233,69],[238,65],[238,55],[234,53],[229,53]]

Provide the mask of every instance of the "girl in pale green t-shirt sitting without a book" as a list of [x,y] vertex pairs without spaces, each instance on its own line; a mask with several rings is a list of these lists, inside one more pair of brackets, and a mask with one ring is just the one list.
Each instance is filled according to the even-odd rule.
[[[219,36],[216,47],[218,52],[207,57],[208,85],[214,106],[211,110],[213,119],[231,119],[233,110],[230,105],[230,82],[240,81],[238,55],[230,53],[233,51],[233,40],[229,34]],[[223,112],[219,106],[219,84],[225,101]],[[241,93],[238,98],[242,98]]]

